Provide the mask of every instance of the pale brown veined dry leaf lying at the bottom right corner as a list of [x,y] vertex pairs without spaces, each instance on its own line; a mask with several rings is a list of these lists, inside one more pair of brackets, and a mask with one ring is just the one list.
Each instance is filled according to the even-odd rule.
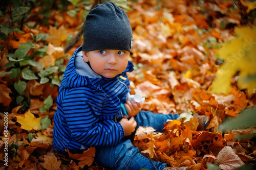
[[217,159],[220,161],[220,168],[223,170],[236,169],[244,162],[234,153],[231,147],[225,146],[218,154]]

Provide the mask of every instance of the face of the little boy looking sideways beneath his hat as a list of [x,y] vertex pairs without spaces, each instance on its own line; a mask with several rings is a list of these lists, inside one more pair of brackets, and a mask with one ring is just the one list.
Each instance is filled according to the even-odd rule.
[[90,62],[92,69],[105,78],[121,74],[127,67],[129,51],[95,50],[82,52],[83,61]]

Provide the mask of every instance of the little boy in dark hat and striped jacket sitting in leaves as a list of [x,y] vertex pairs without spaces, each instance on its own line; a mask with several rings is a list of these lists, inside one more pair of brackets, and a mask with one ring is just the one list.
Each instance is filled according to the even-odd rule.
[[111,2],[97,5],[87,16],[83,38],[59,86],[54,149],[82,153],[96,147],[95,162],[114,169],[164,169],[166,163],[142,156],[131,140],[123,139],[139,126],[161,131],[163,122],[178,117],[141,111],[141,103],[126,101],[130,92],[126,72],[133,70],[127,15]]

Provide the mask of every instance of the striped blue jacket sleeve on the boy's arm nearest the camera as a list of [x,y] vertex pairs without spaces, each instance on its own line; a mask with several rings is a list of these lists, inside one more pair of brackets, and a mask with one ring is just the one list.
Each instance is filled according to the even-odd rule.
[[63,113],[74,142],[87,146],[116,145],[123,137],[120,123],[114,120],[100,120],[103,98],[96,98],[90,89],[75,89],[65,96]]

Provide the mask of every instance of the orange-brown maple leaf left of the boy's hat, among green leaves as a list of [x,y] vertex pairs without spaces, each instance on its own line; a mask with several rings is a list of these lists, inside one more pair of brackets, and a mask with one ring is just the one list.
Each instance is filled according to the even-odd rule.
[[46,38],[46,41],[52,43],[54,46],[60,46],[68,38],[68,32],[63,25],[58,29],[50,26],[49,34],[50,36]]

